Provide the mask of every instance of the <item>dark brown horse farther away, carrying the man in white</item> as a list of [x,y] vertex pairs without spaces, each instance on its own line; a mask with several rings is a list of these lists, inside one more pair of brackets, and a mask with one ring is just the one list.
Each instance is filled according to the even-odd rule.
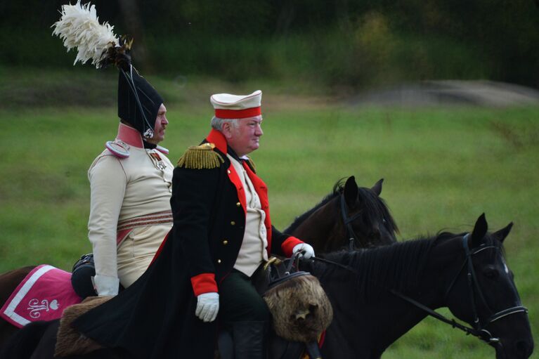
[[[311,244],[317,254],[344,247],[377,247],[396,242],[398,228],[389,214],[379,180],[372,188],[358,187],[351,176],[344,185],[337,182],[319,204],[302,214],[285,233]],[[0,306],[35,266],[23,267],[0,275]],[[0,319],[0,346],[18,330]]]

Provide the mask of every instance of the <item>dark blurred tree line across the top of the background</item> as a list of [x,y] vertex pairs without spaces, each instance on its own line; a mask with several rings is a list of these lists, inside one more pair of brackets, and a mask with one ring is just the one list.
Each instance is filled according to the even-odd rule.
[[[442,78],[539,87],[539,8],[531,0],[91,3],[117,34],[135,38],[134,59],[150,72],[356,87]],[[51,37],[62,4],[0,3],[0,65],[69,65],[73,55]]]

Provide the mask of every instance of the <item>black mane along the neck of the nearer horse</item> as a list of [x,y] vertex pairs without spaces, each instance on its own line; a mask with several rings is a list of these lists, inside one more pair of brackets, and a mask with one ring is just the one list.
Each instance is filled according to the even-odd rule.
[[397,242],[374,249],[332,252],[325,258],[348,266],[354,272],[320,262],[312,263],[311,270],[320,282],[349,282],[348,287],[355,287],[359,301],[365,303],[376,300],[380,294],[387,293],[387,289],[409,292],[417,288],[433,244],[454,236],[441,233],[436,237]]

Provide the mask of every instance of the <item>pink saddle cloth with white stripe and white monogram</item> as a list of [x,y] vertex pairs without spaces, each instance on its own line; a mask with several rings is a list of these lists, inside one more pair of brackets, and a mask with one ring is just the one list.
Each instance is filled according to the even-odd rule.
[[0,317],[15,327],[37,320],[54,320],[82,299],[71,286],[71,273],[42,264],[28,273],[0,309]]

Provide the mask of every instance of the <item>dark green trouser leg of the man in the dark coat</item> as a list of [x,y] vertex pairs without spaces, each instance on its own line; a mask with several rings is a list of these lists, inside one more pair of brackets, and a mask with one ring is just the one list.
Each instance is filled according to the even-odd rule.
[[233,269],[219,285],[219,322],[269,322],[270,316],[251,278]]

